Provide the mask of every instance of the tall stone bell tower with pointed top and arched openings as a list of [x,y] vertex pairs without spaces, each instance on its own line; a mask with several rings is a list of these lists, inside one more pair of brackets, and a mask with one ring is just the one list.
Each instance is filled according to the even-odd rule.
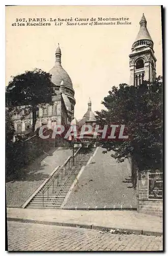
[[156,57],[144,13],[139,25],[139,32],[129,55],[130,85],[132,86],[138,86],[143,80],[152,82],[156,78]]

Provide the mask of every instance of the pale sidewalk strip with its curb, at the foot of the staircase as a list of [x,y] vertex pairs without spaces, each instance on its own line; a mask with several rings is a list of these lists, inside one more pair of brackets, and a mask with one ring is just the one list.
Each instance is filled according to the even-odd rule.
[[124,210],[65,210],[7,208],[8,221],[73,226],[92,229],[119,229],[151,236],[162,235],[162,218]]

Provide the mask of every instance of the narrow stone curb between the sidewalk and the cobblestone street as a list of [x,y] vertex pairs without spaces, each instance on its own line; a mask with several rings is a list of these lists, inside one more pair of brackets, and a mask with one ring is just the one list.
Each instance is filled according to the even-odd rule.
[[7,221],[14,221],[14,222],[22,222],[22,223],[34,223],[34,224],[43,224],[43,225],[52,225],[52,226],[63,226],[63,227],[78,227],[78,228],[87,228],[93,230],[103,230],[103,231],[110,231],[111,229],[123,232],[127,234],[142,234],[144,236],[154,236],[154,237],[161,237],[163,236],[162,232],[157,231],[148,231],[148,230],[141,230],[141,229],[128,229],[128,228],[117,228],[117,227],[103,227],[97,225],[88,225],[88,224],[75,224],[75,223],[64,223],[64,222],[53,222],[53,221],[39,221],[39,220],[30,220],[30,219],[21,219],[21,218],[7,218]]

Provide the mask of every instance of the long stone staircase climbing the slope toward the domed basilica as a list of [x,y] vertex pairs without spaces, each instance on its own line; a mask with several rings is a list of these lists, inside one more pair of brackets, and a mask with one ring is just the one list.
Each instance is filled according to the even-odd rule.
[[26,208],[60,208],[81,167],[87,164],[94,150],[95,148],[88,152],[82,152],[81,149],[77,151],[74,155],[74,165],[72,157],[69,157],[57,174],[53,174],[27,204]]

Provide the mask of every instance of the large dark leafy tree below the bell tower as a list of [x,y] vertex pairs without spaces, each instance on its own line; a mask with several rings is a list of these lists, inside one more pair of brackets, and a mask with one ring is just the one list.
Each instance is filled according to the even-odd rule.
[[[132,176],[135,166],[139,172],[162,168],[162,77],[152,83],[144,81],[140,86],[120,84],[113,87],[102,104],[107,110],[97,112],[100,125],[125,124],[129,140],[99,141],[104,153],[118,162],[131,158]],[[132,180],[134,186],[136,181]]]

